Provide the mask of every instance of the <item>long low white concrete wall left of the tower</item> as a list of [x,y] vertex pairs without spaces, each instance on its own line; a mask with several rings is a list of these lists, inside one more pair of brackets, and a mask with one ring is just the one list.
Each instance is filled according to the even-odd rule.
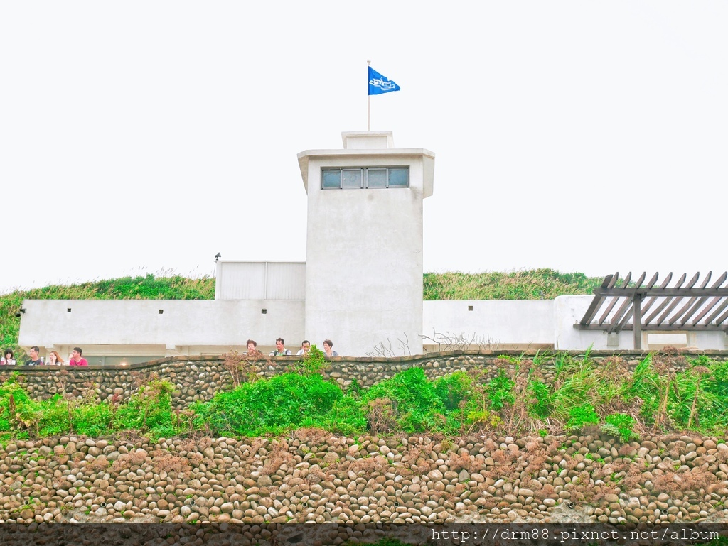
[[122,355],[157,355],[160,348],[164,356],[215,354],[242,348],[248,338],[272,347],[277,337],[293,350],[304,339],[300,300],[25,300],[23,307],[21,346],[79,345],[90,355],[129,345],[137,347]]

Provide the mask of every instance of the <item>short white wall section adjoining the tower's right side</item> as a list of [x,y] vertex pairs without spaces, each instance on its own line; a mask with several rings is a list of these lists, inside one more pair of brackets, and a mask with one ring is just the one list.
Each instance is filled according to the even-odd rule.
[[[472,307],[472,310],[469,308]],[[425,301],[422,333],[446,339],[462,334],[474,345],[540,348],[553,344],[553,300]],[[427,348],[435,345],[425,340]]]

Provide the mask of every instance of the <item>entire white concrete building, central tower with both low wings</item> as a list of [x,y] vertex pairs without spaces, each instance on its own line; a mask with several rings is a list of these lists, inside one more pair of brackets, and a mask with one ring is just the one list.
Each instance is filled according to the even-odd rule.
[[[345,132],[344,148],[305,150],[306,262],[217,262],[215,300],[25,300],[20,345],[41,356],[74,346],[90,364],[273,350],[283,337],[333,340],[341,356],[405,356],[446,348],[633,347],[631,332],[577,330],[590,296],[556,300],[422,300],[422,200],[435,154],[395,148],[391,132]],[[725,350],[725,332],[644,332],[664,345]]]

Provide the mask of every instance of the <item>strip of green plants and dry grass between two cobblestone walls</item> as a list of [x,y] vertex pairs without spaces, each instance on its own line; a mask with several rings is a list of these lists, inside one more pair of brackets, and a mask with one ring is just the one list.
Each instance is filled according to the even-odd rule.
[[[246,364],[247,366],[247,364]],[[676,351],[636,366],[587,353],[497,358],[468,372],[430,379],[405,369],[371,388],[343,390],[322,372],[328,361],[313,347],[298,366],[265,378],[229,366],[230,390],[188,409],[171,409],[173,385],[138,378],[124,404],[99,401],[89,382],[82,396],[28,396],[20,374],[0,385],[0,434],[28,438],[136,430],[151,438],[207,433],[281,435],[319,428],[347,435],[534,435],[606,433],[622,443],[648,433],[692,430],[723,437],[728,428],[728,362],[687,359]]]

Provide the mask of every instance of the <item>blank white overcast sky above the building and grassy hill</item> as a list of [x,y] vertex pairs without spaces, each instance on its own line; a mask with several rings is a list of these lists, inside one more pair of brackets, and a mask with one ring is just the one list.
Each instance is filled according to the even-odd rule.
[[720,273],[727,28],[724,1],[1,2],[0,292],[305,260],[296,154],[366,128],[367,60],[402,88],[371,128],[436,154],[425,271]]

